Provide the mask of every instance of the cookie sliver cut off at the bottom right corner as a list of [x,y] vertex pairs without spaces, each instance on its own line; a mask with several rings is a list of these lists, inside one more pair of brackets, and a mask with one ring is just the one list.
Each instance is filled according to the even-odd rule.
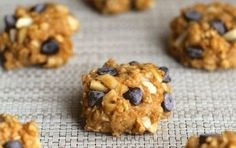
[[186,148],[233,148],[236,147],[236,132],[225,131],[222,135],[192,136]]

